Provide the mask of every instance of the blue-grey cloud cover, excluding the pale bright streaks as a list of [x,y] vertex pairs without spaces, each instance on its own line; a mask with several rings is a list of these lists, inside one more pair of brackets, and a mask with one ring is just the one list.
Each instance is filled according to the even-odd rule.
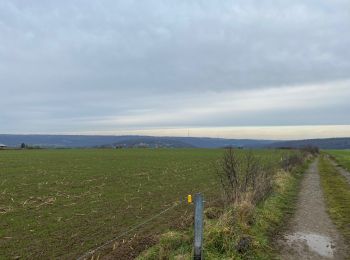
[[[349,26],[345,0],[4,0],[0,132],[34,129],[21,123],[27,120],[42,122],[43,129],[76,129],[72,118],[85,118],[86,130],[95,127],[87,118],[176,110],[174,95],[346,80]],[[322,120],[308,113],[297,120],[293,110],[275,114],[243,114],[234,122],[348,122],[345,113],[329,112]],[[43,123],[50,120],[52,126]],[[198,124],[234,122],[216,116]]]

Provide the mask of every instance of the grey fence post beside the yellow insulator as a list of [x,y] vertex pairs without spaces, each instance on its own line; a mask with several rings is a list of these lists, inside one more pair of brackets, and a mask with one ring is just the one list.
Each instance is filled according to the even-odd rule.
[[197,193],[195,196],[194,209],[194,260],[203,258],[203,196]]

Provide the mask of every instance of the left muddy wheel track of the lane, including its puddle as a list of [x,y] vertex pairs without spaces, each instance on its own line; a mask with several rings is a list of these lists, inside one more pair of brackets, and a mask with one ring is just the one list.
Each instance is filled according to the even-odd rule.
[[302,182],[295,216],[280,239],[281,259],[345,259],[345,244],[326,212],[318,160]]

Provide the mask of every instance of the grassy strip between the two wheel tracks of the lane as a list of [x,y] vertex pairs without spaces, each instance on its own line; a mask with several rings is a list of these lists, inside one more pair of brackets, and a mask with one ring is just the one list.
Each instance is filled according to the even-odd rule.
[[350,185],[324,157],[320,160],[319,170],[328,212],[350,245]]

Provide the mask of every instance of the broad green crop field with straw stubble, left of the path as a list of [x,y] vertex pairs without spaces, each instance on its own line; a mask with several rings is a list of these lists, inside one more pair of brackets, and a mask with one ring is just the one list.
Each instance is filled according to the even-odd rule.
[[[0,259],[76,258],[187,194],[205,191],[207,198],[216,197],[220,192],[214,164],[222,153],[0,151]],[[278,162],[282,152],[255,153]],[[143,232],[162,232],[188,210],[169,212]]]

